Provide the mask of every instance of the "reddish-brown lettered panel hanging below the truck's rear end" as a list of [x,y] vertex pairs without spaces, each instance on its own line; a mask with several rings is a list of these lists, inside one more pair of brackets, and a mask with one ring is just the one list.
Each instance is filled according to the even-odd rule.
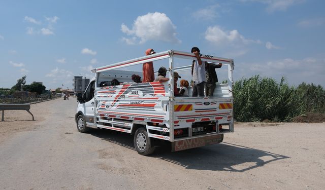
[[190,148],[196,148],[200,146],[206,146],[211,144],[217,144],[222,142],[223,134],[217,134],[207,137],[198,137],[185,140],[178,140],[172,142],[172,151],[185,150]]

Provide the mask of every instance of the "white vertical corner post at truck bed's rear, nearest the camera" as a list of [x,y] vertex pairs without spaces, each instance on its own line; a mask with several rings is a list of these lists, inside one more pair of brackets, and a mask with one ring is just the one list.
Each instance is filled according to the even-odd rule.
[[170,141],[174,141],[174,57],[173,53],[170,53],[169,57],[169,87],[170,87],[170,98],[169,98],[169,122],[170,122]]

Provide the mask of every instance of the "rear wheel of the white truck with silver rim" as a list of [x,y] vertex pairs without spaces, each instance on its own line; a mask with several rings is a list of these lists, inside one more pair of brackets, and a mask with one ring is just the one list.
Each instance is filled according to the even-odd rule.
[[147,130],[143,127],[136,131],[133,142],[140,155],[150,155],[154,151],[154,147],[151,147],[152,141],[148,137]]

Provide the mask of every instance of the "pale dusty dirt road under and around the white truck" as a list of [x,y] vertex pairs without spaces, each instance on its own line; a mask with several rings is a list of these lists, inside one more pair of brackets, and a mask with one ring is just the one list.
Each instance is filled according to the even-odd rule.
[[76,129],[76,99],[5,111],[3,189],[324,189],[325,124],[245,123],[224,142],[138,155],[129,134]]

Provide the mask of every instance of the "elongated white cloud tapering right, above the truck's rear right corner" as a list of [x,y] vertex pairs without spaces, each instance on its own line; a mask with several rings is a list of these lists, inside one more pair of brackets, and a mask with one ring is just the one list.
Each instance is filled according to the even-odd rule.
[[241,35],[238,30],[224,31],[219,26],[209,26],[205,32],[205,39],[217,46],[260,44],[261,41],[249,40]]

